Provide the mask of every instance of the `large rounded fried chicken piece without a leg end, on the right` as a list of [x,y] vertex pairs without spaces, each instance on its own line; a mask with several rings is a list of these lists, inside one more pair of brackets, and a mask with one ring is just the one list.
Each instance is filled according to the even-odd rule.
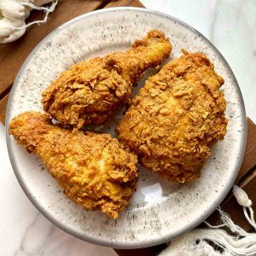
[[170,181],[193,181],[226,133],[222,84],[206,55],[183,50],[146,81],[116,127],[119,140],[149,170]]

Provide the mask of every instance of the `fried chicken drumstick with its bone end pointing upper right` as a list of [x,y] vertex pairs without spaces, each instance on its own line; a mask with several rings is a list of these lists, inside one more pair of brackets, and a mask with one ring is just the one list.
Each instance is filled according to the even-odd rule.
[[143,72],[160,65],[171,50],[164,33],[153,30],[125,52],[79,62],[44,90],[44,111],[64,125],[102,124],[121,103],[131,101],[132,87]]

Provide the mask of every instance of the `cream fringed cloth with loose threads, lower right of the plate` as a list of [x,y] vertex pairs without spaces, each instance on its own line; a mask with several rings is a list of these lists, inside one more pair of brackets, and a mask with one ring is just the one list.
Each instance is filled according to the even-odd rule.
[[[243,207],[245,218],[253,229],[256,224],[253,217],[252,201],[247,193],[233,186],[236,201]],[[218,207],[222,224],[211,225],[205,221],[208,229],[195,229],[170,242],[160,256],[247,256],[256,255],[256,233],[248,233],[236,225],[230,216]],[[249,212],[249,214],[248,214]]]

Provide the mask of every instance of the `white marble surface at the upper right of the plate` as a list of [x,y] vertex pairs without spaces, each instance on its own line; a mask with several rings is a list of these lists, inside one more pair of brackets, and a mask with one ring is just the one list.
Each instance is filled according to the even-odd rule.
[[[236,75],[247,116],[256,122],[256,1],[141,0],[195,27],[224,55]],[[193,42],[191,42],[193,44]]]

